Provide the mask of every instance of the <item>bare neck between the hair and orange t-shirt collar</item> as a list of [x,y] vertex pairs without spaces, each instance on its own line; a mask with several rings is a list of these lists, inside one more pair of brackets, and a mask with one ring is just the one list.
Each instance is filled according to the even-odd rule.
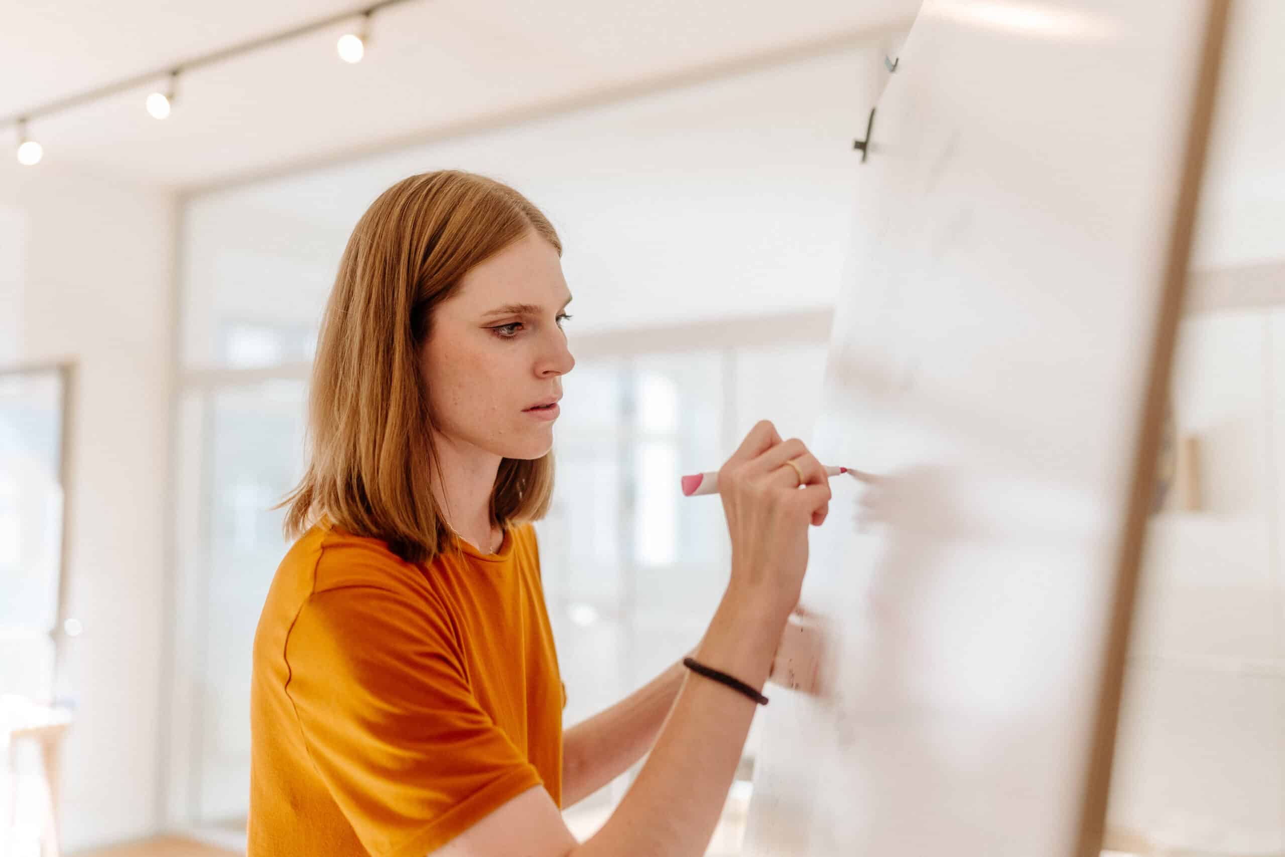
[[433,496],[446,515],[446,523],[483,554],[493,552],[500,536],[491,519],[491,495],[502,459],[472,443],[454,442],[441,434],[434,439],[441,478],[433,473],[430,484]]

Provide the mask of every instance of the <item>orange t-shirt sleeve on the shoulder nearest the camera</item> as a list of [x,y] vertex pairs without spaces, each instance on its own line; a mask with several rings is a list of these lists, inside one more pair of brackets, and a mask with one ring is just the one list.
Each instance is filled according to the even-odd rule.
[[290,630],[287,695],[371,854],[423,857],[542,784],[473,696],[438,612],[352,586],[312,595]]

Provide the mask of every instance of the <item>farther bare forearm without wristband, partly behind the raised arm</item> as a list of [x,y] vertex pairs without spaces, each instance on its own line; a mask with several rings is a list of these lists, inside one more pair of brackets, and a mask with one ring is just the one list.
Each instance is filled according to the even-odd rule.
[[[687,654],[694,654],[695,649]],[[563,808],[574,806],[625,773],[651,749],[686,667],[675,663],[610,708],[569,729],[563,738]]]

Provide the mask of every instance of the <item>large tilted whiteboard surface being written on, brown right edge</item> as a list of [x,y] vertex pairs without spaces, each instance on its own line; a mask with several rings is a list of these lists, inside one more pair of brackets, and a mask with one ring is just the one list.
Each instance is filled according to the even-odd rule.
[[811,443],[878,479],[831,481],[812,532],[825,687],[761,713],[745,854],[1081,848],[1209,19],[1196,0],[924,4],[853,164]]

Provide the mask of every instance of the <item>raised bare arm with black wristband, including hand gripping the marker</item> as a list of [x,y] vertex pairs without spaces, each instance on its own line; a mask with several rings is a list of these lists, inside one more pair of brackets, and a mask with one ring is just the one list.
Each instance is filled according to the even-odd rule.
[[[718,472],[718,486],[732,545],[731,578],[696,659],[759,689],[799,601],[807,528],[825,520],[829,478],[802,441],[783,442],[763,420]],[[437,853],[699,857],[718,824],[757,708],[749,695],[717,681],[684,676],[646,764],[586,842],[576,842],[549,793],[532,788]]]

